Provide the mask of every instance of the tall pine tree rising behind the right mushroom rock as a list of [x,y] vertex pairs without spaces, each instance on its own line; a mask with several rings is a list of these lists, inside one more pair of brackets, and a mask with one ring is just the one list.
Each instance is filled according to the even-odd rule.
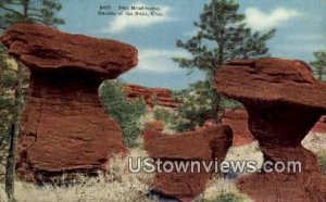
[[210,117],[220,122],[221,96],[213,88],[216,70],[228,60],[266,56],[266,41],[275,35],[275,29],[265,34],[252,31],[244,23],[244,14],[239,14],[239,4],[233,0],[212,0],[205,4],[200,21],[195,22],[199,29],[187,41],[177,40],[178,48],[186,49],[191,59],[174,58],[179,67],[201,70],[210,81],[212,105]]

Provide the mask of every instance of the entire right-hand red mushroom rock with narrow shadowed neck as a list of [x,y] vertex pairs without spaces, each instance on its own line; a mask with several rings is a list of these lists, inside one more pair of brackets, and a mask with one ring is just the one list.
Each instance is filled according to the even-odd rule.
[[215,85],[246,106],[265,162],[301,163],[301,173],[290,168],[240,177],[238,188],[255,201],[325,201],[325,176],[315,155],[301,146],[326,112],[326,85],[310,67],[281,59],[235,60],[217,72]]

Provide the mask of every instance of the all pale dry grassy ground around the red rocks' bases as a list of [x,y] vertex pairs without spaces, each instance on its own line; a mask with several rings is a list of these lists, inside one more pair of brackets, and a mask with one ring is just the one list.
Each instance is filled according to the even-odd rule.
[[[326,136],[309,135],[303,146],[317,155],[326,154]],[[130,156],[147,156],[141,149],[131,150]],[[230,148],[226,156],[228,160],[255,160],[262,163],[263,156],[258,143]],[[114,157],[110,164],[110,173],[96,178],[78,177],[79,184],[72,187],[43,186],[16,181],[16,199],[18,202],[121,202],[121,201],[156,201],[148,197],[153,175],[130,174],[127,161]],[[0,202],[5,200],[3,185],[0,184]],[[214,176],[206,190],[196,201],[250,201],[235,187],[234,180],[222,179]],[[2,200],[2,201],[1,201]]]

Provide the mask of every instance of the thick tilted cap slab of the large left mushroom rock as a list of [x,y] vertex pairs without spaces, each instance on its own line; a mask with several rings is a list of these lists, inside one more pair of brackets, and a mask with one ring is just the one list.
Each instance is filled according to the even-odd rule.
[[39,24],[15,24],[0,41],[32,71],[84,70],[115,78],[138,63],[138,51],[130,45],[71,35]]

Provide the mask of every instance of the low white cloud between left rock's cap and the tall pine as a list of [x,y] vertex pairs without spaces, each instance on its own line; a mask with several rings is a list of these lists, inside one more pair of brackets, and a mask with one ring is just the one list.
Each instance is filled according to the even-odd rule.
[[175,72],[179,68],[172,61],[174,56],[189,56],[189,53],[183,50],[166,49],[146,49],[139,50],[139,64],[135,71],[147,71],[155,73]]

